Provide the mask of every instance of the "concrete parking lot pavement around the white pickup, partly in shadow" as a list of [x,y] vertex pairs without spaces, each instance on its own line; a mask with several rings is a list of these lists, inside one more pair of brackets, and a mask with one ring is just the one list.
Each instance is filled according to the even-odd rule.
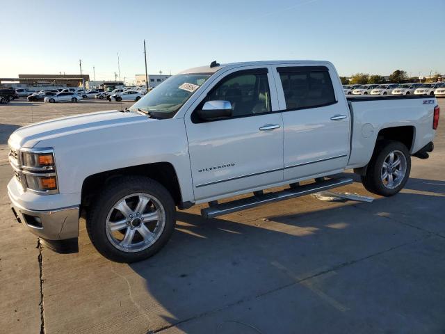
[[[18,103],[18,102],[17,102]],[[445,100],[440,102],[445,110]],[[0,108],[0,328],[5,333],[443,333],[445,127],[406,188],[372,203],[286,200],[206,221],[178,213],[171,241],[116,264],[90,244],[61,255],[15,223],[8,132],[108,102]],[[115,106],[114,106],[115,108]],[[334,191],[369,196],[358,182]],[[42,301],[42,303],[41,303]]]

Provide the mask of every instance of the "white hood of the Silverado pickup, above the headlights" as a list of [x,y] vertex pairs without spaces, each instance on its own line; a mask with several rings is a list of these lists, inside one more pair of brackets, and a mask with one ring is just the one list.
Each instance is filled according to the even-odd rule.
[[46,120],[17,129],[9,137],[8,144],[12,148],[33,148],[39,141],[80,134],[106,127],[119,127],[137,122],[155,121],[136,112],[99,111],[76,116]]

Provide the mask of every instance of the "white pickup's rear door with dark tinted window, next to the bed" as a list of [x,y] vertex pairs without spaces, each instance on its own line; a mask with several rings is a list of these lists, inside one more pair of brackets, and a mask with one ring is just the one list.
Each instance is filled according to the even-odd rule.
[[332,72],[326,66],[276,67],[284,109],[284,180],[327,175],[347,164],[350,113]]

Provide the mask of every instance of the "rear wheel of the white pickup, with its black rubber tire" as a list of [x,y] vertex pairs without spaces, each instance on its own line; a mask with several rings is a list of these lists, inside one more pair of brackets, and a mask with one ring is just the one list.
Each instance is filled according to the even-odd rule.
[[[396,166],[389,165],[389,168],[385,168],[385,164],[390,164],[390,154],[394,153],[393,161],[400,162]],[[391,172],[391,170],[393,170]],[[397,176],[395,173],[401,173]],[[392,184],[389,182],[389,173],[391,173]],[[362,176],[362,184],[367,191],[375,193],[381,196],[393,196],[396,195],[403,186],[405,186],[411,171],[411,156],[406,146],[399,141],[379,141],[375,145],[373,156],[369,161],[366,174]],[[384,175],[388,175],[384,178]],[[396,175],[394,177],[394,175]]]

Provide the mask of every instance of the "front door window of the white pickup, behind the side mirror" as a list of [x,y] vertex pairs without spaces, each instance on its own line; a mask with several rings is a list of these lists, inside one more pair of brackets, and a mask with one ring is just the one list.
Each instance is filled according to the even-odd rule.
[[229,101],[232,104],[232,117],[270,112],[267,73],[240,71],[229,74],[211,90],[203,102],[216,100]]

